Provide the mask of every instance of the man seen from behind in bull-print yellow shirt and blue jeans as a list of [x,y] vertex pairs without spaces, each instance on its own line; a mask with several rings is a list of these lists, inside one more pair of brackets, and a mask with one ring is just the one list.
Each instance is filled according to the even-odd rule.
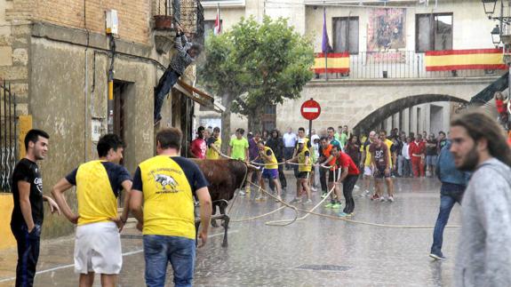
[[180,156],[182,137],[176,128],[158,132],[157,155],[140,163],[133,177],[130,206],[142,229],[148,287],[165,285],[168,262],[176,286],[192,285],[196,260],[194,196],[200,204],[199,247],[208,238],[212,215],[208,182],[196,163]]

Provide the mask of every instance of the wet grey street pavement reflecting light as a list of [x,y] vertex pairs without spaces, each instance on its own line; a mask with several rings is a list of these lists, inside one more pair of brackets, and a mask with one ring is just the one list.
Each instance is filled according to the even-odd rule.
[[[287,173],[287,172],[286,172]],[[296,183],[286,175],[286,201]],[[361,186],[361,182],[357,183]],[[268,226],[270,220],[292,219],[291,209],[265,218],[232,222],[228,247],[221,247],[222,228],[210,229],[204,248],[197,250],[196,286],[451,286],[459,236],[459,206],[445,229],[445,261],[428,257],[439,206],[437,179],[395,179],[395,202],[371,202],[355,196],[356,222],[310,215],[287,227]],[[362,190],[355,190],[358,195]],[[237,196],[231,219],[247,219],[273,211],[274,200],[254,201]],[[314,193],[314,202],[321,200]],[[232,204],[232,202],[231,202]],[[298,204],[310,210],[312,206]],[[344,207],[344,202],[343,202]],[[336,215],[322,206],[315,211]],[[303,216],[304,213],[299,214]],[[368,224],[369,223],[369,224]],[[383,226],[374,226],[379,224]],[[133,224],[122,235],[124,265],[118,286],[144,286],[144,257],[140,233]],[[76,286],[73,237],[44,241],[36,286]],[[0,286],[13,286],[15,250],[0,251]],[[166,285],[172,286],[169,266]],[[96,276],[94,286],[100,286]]]

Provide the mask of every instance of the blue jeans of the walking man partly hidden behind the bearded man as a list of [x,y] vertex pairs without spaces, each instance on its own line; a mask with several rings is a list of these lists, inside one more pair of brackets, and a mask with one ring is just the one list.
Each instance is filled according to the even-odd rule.
[[435,223],[435,230],[433,231],[433,245],[431,252],[439,254],[442,252],[443,243],[443,229],[447,225],[449,216],[451,215],[452,207],[455,203],[461,204],[463,191],[465,187],[452,184],[442,184],[442,191],[440,195],[440,211]]

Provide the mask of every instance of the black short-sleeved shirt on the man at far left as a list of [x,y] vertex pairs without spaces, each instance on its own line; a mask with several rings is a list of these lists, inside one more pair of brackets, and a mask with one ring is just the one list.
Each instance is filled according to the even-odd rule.
[[32,208],[32,219],[34,220],[34,224],[43,224],[43,179],[41,178],[41,172],[39,171],[37,163],[23,158],[16,164],[12,172],[12,198],[14,199],[14,208],[12,210],[11,225],[20,226],[26,224],[20,207],[19,181],[26,181],[30,184],[30,195],[28,195],[28,199]]

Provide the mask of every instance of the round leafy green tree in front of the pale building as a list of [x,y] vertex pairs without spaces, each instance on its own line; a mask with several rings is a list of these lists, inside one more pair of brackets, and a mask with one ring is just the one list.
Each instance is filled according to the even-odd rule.
[[[248,116],[249,129],[260,131],[265,106],[299,98],[313,63],[311,42],[287,20],[265,17],[258,23],[251,17],[207,39],[199,78],[226,107],[222,131],[230,131],[231,112]],[[222,132],[224,144],[228,136]]]

